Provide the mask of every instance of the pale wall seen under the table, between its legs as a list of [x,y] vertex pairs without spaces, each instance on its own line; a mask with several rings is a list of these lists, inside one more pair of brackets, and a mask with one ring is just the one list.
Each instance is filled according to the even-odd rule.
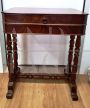
[[20,64],[64,65],[68,40],[61,36],[18,36]]

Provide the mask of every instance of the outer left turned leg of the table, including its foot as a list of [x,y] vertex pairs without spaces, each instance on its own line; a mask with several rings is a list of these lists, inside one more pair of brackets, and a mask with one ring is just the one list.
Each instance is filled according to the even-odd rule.
[[6,97],[11,99],[14,90],[14,71],[13,71],[13,54],[12,54],[12,40],[11,35],[7,34],[7,65],[9,71],[9,82],[8,82],[8,92]]

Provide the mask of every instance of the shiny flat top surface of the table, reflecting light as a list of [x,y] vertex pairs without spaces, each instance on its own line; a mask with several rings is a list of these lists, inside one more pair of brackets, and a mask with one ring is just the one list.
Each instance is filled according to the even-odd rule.
[[82,11],[72,8],[26,8],[15,7],[10,8],[3,13],[18,13],[18,14],[86,14]]

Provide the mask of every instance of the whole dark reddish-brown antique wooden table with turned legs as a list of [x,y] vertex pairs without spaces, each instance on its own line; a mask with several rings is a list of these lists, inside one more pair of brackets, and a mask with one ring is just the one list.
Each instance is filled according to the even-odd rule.
[[[7,63],[9,70],[8,91],[11,99],[18,78],[66,79],[70,83],[71,97],[78,100],[76,73],[81,44],[85,35],[87,15],[75,9],[61,8],[11,8],[2,12],[3,28],[6,34]],[[70,35],[67,74],[21,73],[18,67],[17,34],[58,34]]]

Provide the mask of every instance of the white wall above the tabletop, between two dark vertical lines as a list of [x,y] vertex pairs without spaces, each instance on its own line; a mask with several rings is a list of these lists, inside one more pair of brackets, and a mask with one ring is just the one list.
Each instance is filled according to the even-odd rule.
[[84,0],[3,0],[4,9],[11,7],[75,8],[82,10]]

